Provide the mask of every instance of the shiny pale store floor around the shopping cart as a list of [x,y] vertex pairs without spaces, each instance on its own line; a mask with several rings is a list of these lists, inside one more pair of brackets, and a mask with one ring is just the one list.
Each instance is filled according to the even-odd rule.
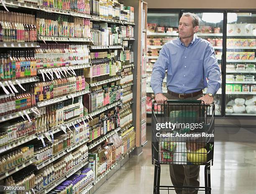
[[[147,139],[151,139],[150,127]],[[216,142],[214,165],[211,167],[212,194],[255,194],[256,144]],[[133,156],[95,194],[153,194],[154,166],[151,164],[151,142],[143,154]],[[204,186],[204,171],[200,171]],[[171,185],[169,168],[161,166],[161,185]],[[160,191],[160,194],[167,194]],[[175,194],[170,191],[170,194]],[[198,194],[205,193],[204,191]]]

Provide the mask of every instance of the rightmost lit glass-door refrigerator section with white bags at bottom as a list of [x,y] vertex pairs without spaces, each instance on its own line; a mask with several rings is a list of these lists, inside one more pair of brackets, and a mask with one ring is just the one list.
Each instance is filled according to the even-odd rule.
[[256,116],[256,13],[227,13],[225,115]]

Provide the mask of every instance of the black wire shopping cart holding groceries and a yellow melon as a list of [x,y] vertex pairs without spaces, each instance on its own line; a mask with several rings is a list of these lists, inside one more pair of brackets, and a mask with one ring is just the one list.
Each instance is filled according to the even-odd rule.
[[[167,190],[168,194],[169,190],[211,193],[214,113],[215,105],[205,105],[202,101],[168,100],[164,104],[152,104],[154,194],[159,194],[160,190]],[[192,144],[202,148],[190,151],[187,146]],[[161,164],[205,165],[205,186],[160,186]]]

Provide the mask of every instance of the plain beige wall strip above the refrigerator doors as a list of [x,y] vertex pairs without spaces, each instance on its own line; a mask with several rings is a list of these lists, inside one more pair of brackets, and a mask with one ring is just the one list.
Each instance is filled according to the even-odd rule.
[[256,0],[146,0],[148,8],[256,9]]

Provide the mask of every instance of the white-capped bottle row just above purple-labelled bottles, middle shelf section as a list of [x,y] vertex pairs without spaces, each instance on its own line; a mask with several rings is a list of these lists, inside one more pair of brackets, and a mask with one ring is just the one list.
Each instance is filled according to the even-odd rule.
[[74,168],[88,159],[87,146],[81,146],[72,154],[62,156],[59,161],[47,165],[44,169],[37,171],[36,174],[36,191],[40,192],[53,183],[66,176]]

